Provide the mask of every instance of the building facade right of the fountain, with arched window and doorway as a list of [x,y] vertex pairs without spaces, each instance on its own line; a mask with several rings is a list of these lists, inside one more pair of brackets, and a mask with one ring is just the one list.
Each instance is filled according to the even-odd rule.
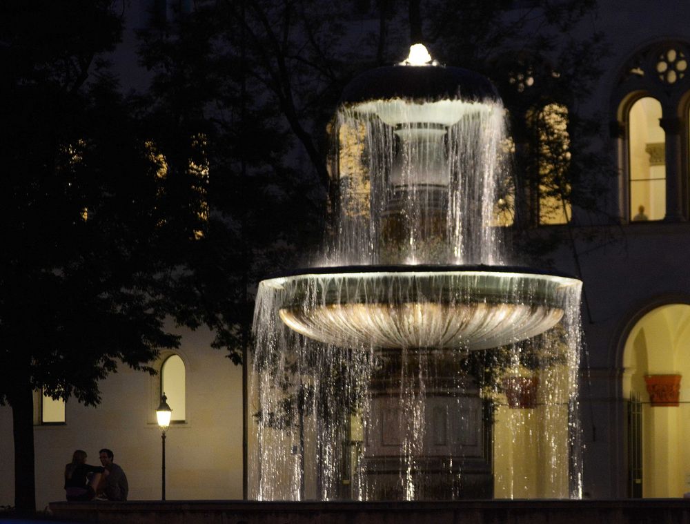
[[618,177],[601,204],[620,226],[609,242],[578,231],[560,260],[584,282],[584,492],[680,497],[690,492],[690,34],[680,22],[690,12],[600,4],[595,23],[611,48],[591,110],[611,130],[601,140]]

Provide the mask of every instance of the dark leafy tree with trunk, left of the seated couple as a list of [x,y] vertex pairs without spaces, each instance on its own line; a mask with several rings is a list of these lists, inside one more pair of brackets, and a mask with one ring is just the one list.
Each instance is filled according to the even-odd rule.
[[[33,395],[99,400],[119,362],[152,372],[184,268],[170,246],[199,229],[102,54],[110,0],[0,10],[0,402],[12,408],[15,506],[35,508]],[[195,217],[195,218],[190,218]]]

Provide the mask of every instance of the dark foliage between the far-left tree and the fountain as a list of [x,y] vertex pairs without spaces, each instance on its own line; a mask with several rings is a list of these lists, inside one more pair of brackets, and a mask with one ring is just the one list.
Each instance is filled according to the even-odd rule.
[[248,347],[257,282],[308,263],[322,231],[325,129],[339,90],[315,40],[299,54],[305,38],[324,43],[307,7],[199,1],[140,35],[152,72],[141,105],[168,167],[185,168],[175,162],[180,137],[205,140],[210,213],[188,253],[193,296],[181,302],[195,307],[186,320],[211,327],[235,363]]

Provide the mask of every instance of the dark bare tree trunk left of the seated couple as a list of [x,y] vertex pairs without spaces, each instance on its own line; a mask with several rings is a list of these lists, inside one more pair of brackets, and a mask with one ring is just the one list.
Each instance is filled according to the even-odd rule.
[[36,511],[34,398],[29,380],[17,380],[15,385],[8,398],[14,435],[14,507],[18,514],[30,514]]

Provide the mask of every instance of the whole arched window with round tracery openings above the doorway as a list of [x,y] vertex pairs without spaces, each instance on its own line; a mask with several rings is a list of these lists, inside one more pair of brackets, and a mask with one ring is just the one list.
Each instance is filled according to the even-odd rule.
[[687,220],[688,57],[685,42],[656,43],[633,55],[620,75],[613,101],[627,222]]

